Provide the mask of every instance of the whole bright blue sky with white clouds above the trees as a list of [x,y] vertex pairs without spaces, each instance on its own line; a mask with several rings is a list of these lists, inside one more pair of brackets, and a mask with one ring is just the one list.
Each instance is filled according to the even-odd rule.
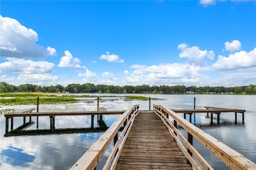
[[256,1],[1,1],[0,81],[256,84]]

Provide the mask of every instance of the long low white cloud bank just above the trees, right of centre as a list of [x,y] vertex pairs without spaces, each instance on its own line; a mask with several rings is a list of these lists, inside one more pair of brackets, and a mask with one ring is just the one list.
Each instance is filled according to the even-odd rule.
[[127,73],[125,79],[128,84],[138,85],[141,82],[147,84],[172,84],[172,83],[194,83],[200,81],[204,75],[201,71],[209,71],[210,67],[200,67],[189,63],[165,63],[160,65],[136,65],[132,73]]

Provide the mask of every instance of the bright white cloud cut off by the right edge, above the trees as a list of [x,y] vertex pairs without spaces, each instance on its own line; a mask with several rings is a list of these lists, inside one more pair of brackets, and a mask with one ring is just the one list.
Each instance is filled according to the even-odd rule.
[[228,57],[218,56],[216,63],[212,65],[217,70],[236,70],[256,67],[256,48],[250,52],[239,51]]

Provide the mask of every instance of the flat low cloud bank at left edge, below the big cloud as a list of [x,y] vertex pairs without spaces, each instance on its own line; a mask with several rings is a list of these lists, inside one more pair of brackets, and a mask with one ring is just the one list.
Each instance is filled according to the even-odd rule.
[[17,58],[6,58],[8,61],[0,63],[1,71],[20,74],[44,74],[53,71],[54,63],[48,61],[32,61]]

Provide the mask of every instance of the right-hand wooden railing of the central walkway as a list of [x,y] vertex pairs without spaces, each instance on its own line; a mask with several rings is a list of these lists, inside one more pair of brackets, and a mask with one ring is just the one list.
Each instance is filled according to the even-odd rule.
[[[210,150],[213,154],[215,154],[222,162],[224,162],[226,165],[240,165],[240,166],[234,166],[230,167],[233,169],[255,169],[254,162],[248,160],[245,158],[242,154],[236,152],[232,148],[226,146],[216,138],[210,136],[200,128],[197,128],[196,126],[192,125],[186,119],[183,119],[180,117],[177,113],[174,111],[161,106],[161,105],[153,105],[154,112],[162,119],[166,127],[169,129],[170,133],[176,140],[177,144],[180,146],[182,152],[187,157],[190,164],[194,167],[194,169],[201,169],[200,166],[196,163],[194,158],[192,158],[192,155],[200,162],[202,167],[207,170],[213,170],[213,168],[206,162],[206,160],[196,151],[196,149],[192,146],[193,144],[193,137],[196,138],[200,143],[202,143],[208,150]],[[172,117],[174,120],[174,123],[172,124],[169,121],[169,116]],[[177,130],[177,123],[183,127],[187,133],[188,136],[185,138],[178,130]],[[182,142],[186,145],[187,148],[182,144],[182,142],[179,140],[179,138],[182,140]]]

